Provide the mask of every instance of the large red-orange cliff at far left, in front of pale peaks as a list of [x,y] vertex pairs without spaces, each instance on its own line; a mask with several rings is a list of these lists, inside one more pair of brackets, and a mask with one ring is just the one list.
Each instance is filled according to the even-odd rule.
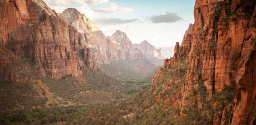
[[[1,1],[1,66],[3,80],[18,80],[19,61],[28,58],[43,76],[81,77],[95,68],[78,32],[40,0]],[[87,66],[86,66],[87,65]]]

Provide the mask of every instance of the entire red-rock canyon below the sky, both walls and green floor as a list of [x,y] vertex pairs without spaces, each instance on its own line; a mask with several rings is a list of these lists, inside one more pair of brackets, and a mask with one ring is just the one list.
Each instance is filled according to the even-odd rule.
[[41,0],[0,14],[0,124],[256,124],[254,1],[196,0],[174,48]]

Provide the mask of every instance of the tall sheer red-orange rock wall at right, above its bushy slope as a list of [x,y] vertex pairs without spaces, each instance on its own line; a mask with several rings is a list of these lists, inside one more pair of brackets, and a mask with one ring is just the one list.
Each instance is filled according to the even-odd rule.
[[[252,1],[197,1],[195,5],[194,48],[189,53],[188,88],[192,88],[189,82],[201,77],[209,99],[225,85],[236,83],[238,104],[231,124],[246,124],[255,119],[255,115],[250,115],[256,96],[253,77],[255,14],[255,2]],[[201,50],[198,51],[197,47]],[[246,60],[247,66],[250,65],[248,68],[245,68]],[[202,68],[202,73],[192,75],[198,68]]]

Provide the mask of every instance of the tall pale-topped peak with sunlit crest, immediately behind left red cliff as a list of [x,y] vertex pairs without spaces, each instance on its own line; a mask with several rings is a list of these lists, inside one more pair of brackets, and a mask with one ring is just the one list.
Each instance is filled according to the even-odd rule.
[[88,46],[93,55],[93,61],[97,64],[108,63],[112,60],[108,58],[108,44],[105,35],[87,16],[81,14],[74,8],[68,8],[59,17],[66,21],[78,31],[78,43],[81,46]]

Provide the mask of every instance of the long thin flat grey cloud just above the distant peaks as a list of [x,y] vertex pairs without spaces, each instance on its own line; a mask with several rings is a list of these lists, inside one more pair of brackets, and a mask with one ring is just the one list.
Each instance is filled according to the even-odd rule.
[[124,24],[124,23],[130,23],[137,21],[138,19],[120,19],[120,18],[99,18],[99,19],[94,19],[93,21],[96,24],[103,24],[103,25],[116,25],[116,24]]

